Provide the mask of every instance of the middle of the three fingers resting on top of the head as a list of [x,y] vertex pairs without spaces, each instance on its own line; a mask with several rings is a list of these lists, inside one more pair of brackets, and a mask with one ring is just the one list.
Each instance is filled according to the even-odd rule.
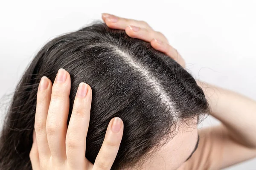
[[127,26],[125,28],[125,32],[129,37],[137,38],[147,42],[151,42],[151,40],[155,38],[158,40],[162,40],[163,42],[169,43],[166,37],[163,36],[163,34],[152,29],[140,28],[137,26]]

